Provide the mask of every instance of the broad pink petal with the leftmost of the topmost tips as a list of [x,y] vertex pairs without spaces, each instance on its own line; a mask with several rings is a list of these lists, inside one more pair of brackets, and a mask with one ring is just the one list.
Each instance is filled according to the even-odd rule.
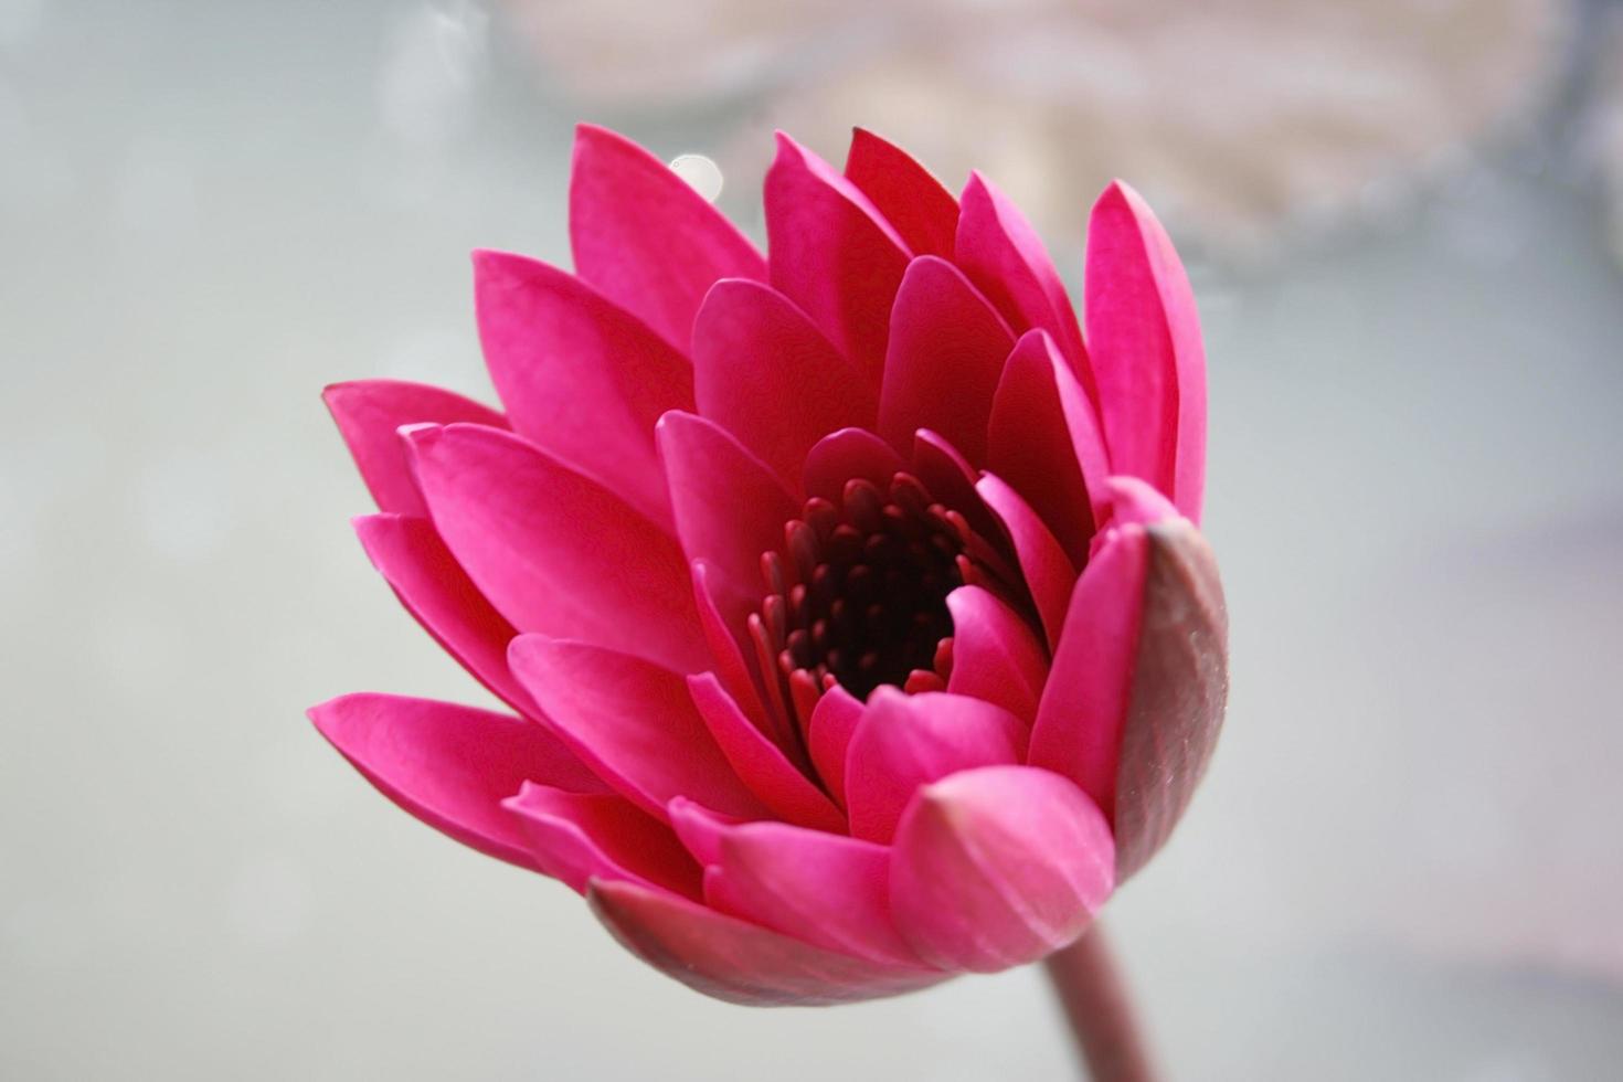
[[766,260],[709,201],[622,135],[575,128],[575,273],[687,352],[693,315],[719,277],[766,281]]

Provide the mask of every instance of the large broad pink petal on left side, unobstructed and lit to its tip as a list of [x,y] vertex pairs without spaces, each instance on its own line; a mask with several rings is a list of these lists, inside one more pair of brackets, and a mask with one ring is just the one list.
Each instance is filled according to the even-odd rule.
[[521,631],[706,665],[687,560],[657,526],[518,436],[409,430],[435,529]]

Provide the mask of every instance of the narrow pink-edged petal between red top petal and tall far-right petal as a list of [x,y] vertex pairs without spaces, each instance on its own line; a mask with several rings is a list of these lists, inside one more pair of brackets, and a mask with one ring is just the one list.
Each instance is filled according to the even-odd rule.
[[1016,334],[1034,328],[1052,334],[1092,399],[1092,373],[1076,311],[1037,230],[980,174],[969,175],[961,203],[954,250],[958,266]]

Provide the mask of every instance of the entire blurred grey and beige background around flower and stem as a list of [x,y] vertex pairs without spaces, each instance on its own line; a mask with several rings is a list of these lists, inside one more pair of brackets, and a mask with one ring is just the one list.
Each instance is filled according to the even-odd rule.
[[302,717],[482,698],[321,384],[490,401],[467,251],[566,261],[576,118],[756,235],[800,118],[984,149],[1066,273],[1112,172],[1190,256],[1233,698],[1109,908],[1172,1077],[1623,1077],[1610,11],[863,6],[0,0],[0,1076],[1070,1077],[1034,970],[703,999]]

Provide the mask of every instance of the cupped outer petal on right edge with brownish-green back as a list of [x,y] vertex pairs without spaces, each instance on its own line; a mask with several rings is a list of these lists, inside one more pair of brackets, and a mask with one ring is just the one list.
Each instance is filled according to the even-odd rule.
[[1227,659],[1217,565],[1195,527],[1112,530],[1071,599],[1029,761],[1112,818],[1118,881],[1160,848],[1206,771]]

